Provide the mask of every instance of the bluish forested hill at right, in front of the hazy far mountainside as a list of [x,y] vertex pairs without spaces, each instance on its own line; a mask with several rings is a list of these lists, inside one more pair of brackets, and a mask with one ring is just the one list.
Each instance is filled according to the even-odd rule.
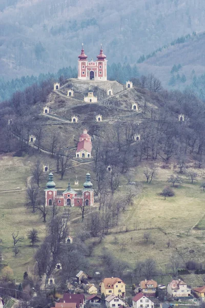
[[[166,88],[185,89],[204,73],[204,46],[205,33],[193,33],[140,57],[137,66],[142,73],[154,73]],[[194,90],[200,95],[196,86]]]

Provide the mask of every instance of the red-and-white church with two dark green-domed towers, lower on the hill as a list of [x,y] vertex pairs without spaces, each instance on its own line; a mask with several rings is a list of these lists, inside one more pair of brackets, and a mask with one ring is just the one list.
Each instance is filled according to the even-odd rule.
[[52,206],[56,204],[58,206],[92,206],[94,203],[94,190],[92,189],[93,184],[90,181],[90,174],[86,174],[86,181],[84,183],[84,189],[77,192],[71,188],[68,183],[68,188],[64,192],[59,192],[55,188],[53,181],[53,174],[49,174],[49,180],[46,184],[45,197],[46,205]]

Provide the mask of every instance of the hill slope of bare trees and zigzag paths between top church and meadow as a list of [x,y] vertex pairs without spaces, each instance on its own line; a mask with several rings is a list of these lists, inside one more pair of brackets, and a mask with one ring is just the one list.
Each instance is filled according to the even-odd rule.
[[[107,97],[100,84],[94,85],[94,94],[99,97],[96,104],[80,99],[86,89],[75,89],[72,79],[62,81],[63,87],[54,92],[52,81],[17,92],[10,101],[1,104],[2,150],[28,152],[28,137],[34,134],[37,147],[62,155],[69,148],[74,156],[79,134],[87,128],[94,145],[100,143],[102,153],[106,149],[102,154],[105,165],[117,164],[128,170],[142,159],[169,162],[172,157],[184,159],[190,155],[203,161],[204,103],[192,91],[158,89],[156,92],[156,84],[157,80],[149,76],[137,87],[111,97]],[[67,97],[70,87],[75,89],[79,101]],[[131,109],[132,103],[138,104],[137,111]],[[42,114],[45,105],[51,108],[46,116]],[[71,123],[74,114],[79,118],[78,123]],[[103,115],[103,122],[96,122],[97,114]],[[185,115],[185,121],[178,121],[179,114]],[[12,119],[10,125],[9,119]],[[14,133],[19,140],[13,138]],[[134,141],[136,134],[140,134],[139,142]]]

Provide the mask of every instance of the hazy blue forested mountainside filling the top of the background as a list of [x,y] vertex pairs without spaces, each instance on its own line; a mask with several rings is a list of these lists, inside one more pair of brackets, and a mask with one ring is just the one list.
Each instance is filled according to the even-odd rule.
[[[0,4],[0,74],[22,76],[76,63],[103,43],[108,60],[135,63],[181,35],[203,31],[203,0],[13,0]],[[90,17],[91,16],[91,17]]]

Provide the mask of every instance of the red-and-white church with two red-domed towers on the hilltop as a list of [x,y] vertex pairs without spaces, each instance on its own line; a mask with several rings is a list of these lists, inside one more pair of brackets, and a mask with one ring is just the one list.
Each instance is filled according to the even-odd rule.
[[79,80],[94,80],[106,81],[107,80],[107,60],[106,55],[103,53],[101,46],[100,52],[97,55],[96,61],[87,61],[84,45],[82,46],[81,53],[78,55],[78,79]]

